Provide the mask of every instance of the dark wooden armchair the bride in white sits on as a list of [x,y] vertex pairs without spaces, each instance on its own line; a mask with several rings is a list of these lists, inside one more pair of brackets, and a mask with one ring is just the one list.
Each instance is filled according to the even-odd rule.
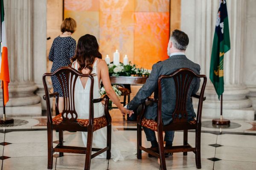
[[[64,95],[64,110],[59,113],[58,110],[58,93],[49,94],[46,78],[56,76],[60,82],[62,92]],[[80,153],[86,154],[84,170],[90,170],[90,160],[95,156],[107,151],[107,159],[111,158],[111,116],[108,112],[108,105],[105,105],[105,116],[94,118],[93,117],[93,103],[101,102],[105,99],[108,103],[108,96],[105,95],[100,99],[93,99],[93,76],[91,74],[81,74],[71,67],[59,68],[54,73],[45,73],[43,75],[44,83],[44,99],[47,103],[47,140],[48,140],[48,169],[52,169],[53,153],[59,152],[60,156],[64,156],[63,153]],[[76,113],[75,101],[74,101],[74,90],[76,80],[79,77],[88,77],[91,80],[90,83],[90,114],[89,119],[78,119]],[[52,118],[50,97],[56,97],[55,107],[56,116]],[[107,143],[105,148],[92,148],[93,132],[107,127]],[[59,132],[59,143],[56,147],[53,147],[52,141],[52,130],[58,130]],[[64,146],[63,143],[63,131],[83,131],[87,132],[87,147],[76,147],[76,146]],[[92,151],[96,153],[92,154]]]

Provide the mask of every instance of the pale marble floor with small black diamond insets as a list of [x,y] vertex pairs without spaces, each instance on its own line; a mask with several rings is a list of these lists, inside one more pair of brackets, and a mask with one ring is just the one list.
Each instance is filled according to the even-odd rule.
[[[117,109],[111,111],[114,127],[136,144],[136,123],[126,121]],[[0,167],[2,170],[47,170],[46,116],[14,117],[15,126],[0,127]],[[255,170],[256,169],[256,121],[231,120],[230,127],[219,128],[202,119],[201,162],[202,170]],[[54,132],[54,141],[58,133]],[[189,143],[195,145],[195,132],[189,131]],[[81,133],[64,132],[66,145],[83,146]],[[175,132],[174,145],[183,143],[183,133]],[[143,133],[143,145],[150,147]],[[85,156],[55,153],[53,169],[83,170]],[[174,153],[166,158],[168,170],[195,170],[195,155]],[[159,170],[158,159],[143,153],[125,161],[114,162],[94,158],[91,170]]]

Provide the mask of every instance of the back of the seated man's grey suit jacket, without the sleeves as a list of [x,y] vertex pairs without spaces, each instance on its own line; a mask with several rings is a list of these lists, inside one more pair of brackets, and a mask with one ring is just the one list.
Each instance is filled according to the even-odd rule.
[[[169,75],[177,71],[180,68],[189,68],[196,74],[200,73],[200,66],[191,60],[187,59],[185,55],[174,55],[169,59],[164,60],[156,64],[158,68],[158,75]],[[198,91],[200,80],[194,78],[189,87],[188,96]],[[173,78],[163,79],[161,82],[162,88],[162,119],[164,124],[168,124],[172,121],[172,113],[175,110],[176,103],[176,88]],[[188,119],[192,119],[195,116],[192,102],[190,97],[187,98],[186,109],[188,112]]]

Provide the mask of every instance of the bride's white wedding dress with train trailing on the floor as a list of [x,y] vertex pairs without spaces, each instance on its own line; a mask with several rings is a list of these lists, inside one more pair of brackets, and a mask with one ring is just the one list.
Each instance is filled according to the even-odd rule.
[[[98,99],[101,97],[99,91],[99,79],[97,76],[97,62],[98,59],[94,62],[93,71],[91,74],[96,74],[94,76],[94,85],[93,85],[93,98]],[[75,67],[74,67],[75,63]],[[78,70],[77,62],[74,62],[72,67]],[[101,80],[100,80],[101,82]],[[78,114],[79,119],[89,119],[89,93],[90,93],[90,79],[87,79],[85,88],[81,83],[80,78],[77,79],[75,85],[75,108]],[[105,115],[104,105],[99,103],[93,104],[94,108],[94,118],[101,117]],[[87,132],[82,133],[82,140],[84,145],[87,145]],[[113,130],[111,132],[111,158],[113,161],[131,159],[136,153],[136,148],[134,143],[128,141],[122,134],[118,133],[118,130]],[[107,146],[107,127],[103,127],[99,130],[93,132],[93,147],[104,148]],[[100,154],[96,158],[106,158],[106,152]]]

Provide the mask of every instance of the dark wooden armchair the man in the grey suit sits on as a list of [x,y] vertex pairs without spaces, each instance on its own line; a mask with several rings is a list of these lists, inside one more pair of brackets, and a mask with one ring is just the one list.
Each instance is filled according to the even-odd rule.
[[[175,111],[172,113],[172,123],[169,125],[163,125],[162,122],[162,90],[161,81],[163,79],[173,78],[176,88],[176,106]],[[189,86],[193,78],[203,78],[204,82],[201,87],[200,95],[193,95],[199,99],[198,111],[196,120],[192,122],[187,121],[188,113],[186,111],[186,99]],[[196,167],[201,169],[201,152],[200,152],[200,142],[201,142],[201,114],[203,101],[206,99],[204,97],[204,89],[206,86],[207,77],[205,75],[197,75],[195,72],[188,68],[180,68],[171,75],[162,75],[158,78],[158,98],[148,100],[152,102],[157,102],[157,122],[152,119],[145,119],[145,102],[143,103],[142,112],[137,117],[137,159],[141,159],[141,151],[160,158],[160,165],[162,170],[166,170],[166,160],[165,153],[176,153],[183,152],[183,155],[187,155],[187,152],[195,153]],[[159,147],[145,148],[142,146],[141,131],[142,126],[150,128],[151,130],[157,131]],[[195,147],[188,144],[188,130],[195,130]],[[163,131],[169,130],[183,130],[183,145],[164,147],[163,146]],[[158,153],[159,150],[159,153]]]

